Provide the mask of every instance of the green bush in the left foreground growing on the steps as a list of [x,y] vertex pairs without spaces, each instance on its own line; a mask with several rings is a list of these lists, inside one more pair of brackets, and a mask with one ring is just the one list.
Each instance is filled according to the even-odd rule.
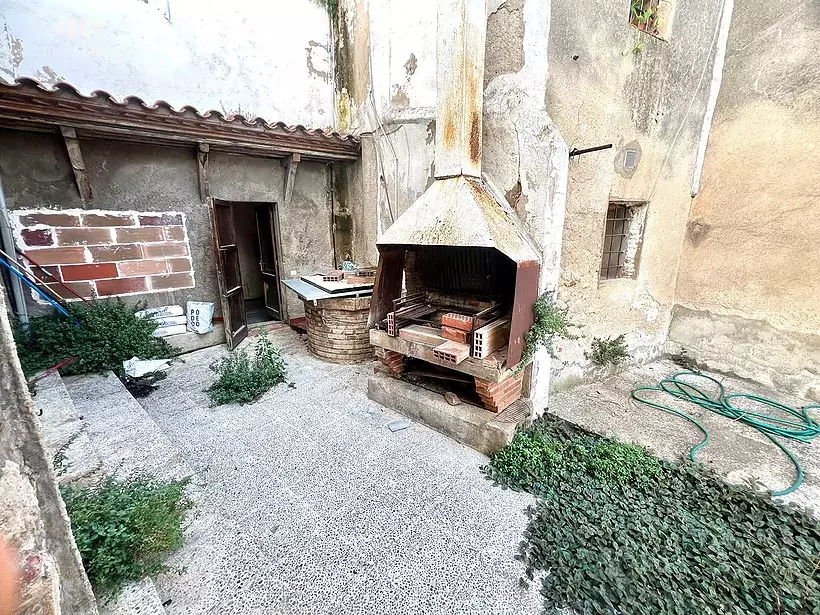
[[167,569],[163,559],[182,545],[183,523],[193,508],[185,495],[187,482],[135,475],[60,488],[96,591],[111,597],[127,582]]

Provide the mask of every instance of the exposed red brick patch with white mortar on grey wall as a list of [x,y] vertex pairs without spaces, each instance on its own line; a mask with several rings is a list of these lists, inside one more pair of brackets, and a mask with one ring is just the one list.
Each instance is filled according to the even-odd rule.
[[[13,220],[20,249],[45,270],[34,274],[50,282],[50,273],[82,297],[194,286],[181,213],[21,210]],[[49,287],[74,298],[59,284]]]

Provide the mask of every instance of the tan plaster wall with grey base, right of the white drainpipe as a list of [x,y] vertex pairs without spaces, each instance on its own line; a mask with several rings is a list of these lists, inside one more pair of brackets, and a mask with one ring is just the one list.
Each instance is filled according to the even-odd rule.
[[734,9],[670,351],[820,399],[820,11]]

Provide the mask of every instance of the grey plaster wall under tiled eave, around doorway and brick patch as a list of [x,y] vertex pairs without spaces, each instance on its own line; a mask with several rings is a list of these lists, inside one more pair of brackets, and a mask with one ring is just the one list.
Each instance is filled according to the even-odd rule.
[[[56,136],[0,131],[0,175],[9,210],[83,209],[62,140]],[[185,214],[195,287],[138,295],[149,307],[214,301],[221,313],[208,207],[200,202],[194,153],[184,149],[82,141],[94,199],[86,209],[176,211]],[[212,152],[214,197],[281,203],[285,171],[279,160]],[[325,165],[299,165],[289,207],[280,207],[282,273],[290,276],[332,267],[330,205]],[[301,301],[286,297],[291,317]],[[36,310],[37,306],[33,306]]]

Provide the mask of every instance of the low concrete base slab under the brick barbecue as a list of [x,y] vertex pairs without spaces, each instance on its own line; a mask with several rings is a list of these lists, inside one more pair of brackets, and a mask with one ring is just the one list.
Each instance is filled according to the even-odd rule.
[[498,414],[471,404],[453,406],[438,393],[383,373],[367,379],[367,395],[485,455],[504,448],[516,428],[530,422],[529,409],[521,407],[523,400]]

